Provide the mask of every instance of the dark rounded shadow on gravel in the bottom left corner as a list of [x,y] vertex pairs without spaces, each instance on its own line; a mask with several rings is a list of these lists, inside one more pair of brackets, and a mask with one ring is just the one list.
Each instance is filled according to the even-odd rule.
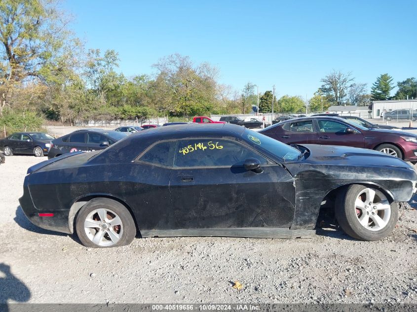
[[8,300],[27,302],[31,299],[31,296],[29,288],[10,272],[10,266],[5,263],[0,263],[1,311],[8,311],[7,306],[4,305]]

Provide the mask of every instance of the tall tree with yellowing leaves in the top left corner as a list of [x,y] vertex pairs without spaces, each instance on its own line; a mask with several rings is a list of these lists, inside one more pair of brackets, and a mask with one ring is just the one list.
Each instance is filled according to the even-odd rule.
[[0,116],[22,83],[45,83],[77,62],[79,40],[65,17],[57,0],[0,1]]

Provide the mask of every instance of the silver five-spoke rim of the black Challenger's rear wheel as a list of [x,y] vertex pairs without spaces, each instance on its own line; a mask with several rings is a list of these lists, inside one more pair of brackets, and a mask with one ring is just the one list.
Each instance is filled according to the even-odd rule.
[[85,218],[84,231],[96,245],[112,246],[122,237],[123,224],[114,211],[99,208],[91,211]]

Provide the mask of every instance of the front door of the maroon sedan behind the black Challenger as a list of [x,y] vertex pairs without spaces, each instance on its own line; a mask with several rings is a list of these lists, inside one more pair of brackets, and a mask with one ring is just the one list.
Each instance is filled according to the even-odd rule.
[[[364,135],[349,124],[337,120],[315,119],[319,144],[365,147]],[[349,133],[347,129],[352,129]]]

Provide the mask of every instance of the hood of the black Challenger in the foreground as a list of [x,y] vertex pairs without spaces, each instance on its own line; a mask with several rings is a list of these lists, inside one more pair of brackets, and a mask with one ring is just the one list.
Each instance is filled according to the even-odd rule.
[[338,145],[301,144],[310,154],[304,162],[320,165],[340,166],[388,166],[414,170],[405,161],[379,151]]

